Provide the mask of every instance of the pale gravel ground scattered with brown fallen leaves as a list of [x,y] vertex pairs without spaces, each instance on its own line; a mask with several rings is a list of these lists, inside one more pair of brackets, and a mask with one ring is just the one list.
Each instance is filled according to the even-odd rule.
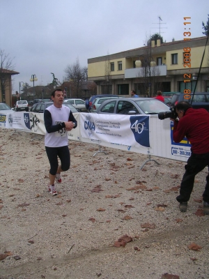
[[0,129],[0,139],[0,279],[209,278],[208,169],[180,213],[185,163],[153,157],[160,165],[140,170],[146,155],[93,156],[98,146],[69,142],[71,167],[52,197],[44,137]]

